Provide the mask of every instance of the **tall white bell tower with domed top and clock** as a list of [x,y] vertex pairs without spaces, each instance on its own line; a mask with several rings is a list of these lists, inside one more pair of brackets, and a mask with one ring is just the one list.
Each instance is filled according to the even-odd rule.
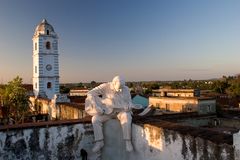
[[59,93],[58,36],[43,19],[32,40],[34,95],[52,99]]

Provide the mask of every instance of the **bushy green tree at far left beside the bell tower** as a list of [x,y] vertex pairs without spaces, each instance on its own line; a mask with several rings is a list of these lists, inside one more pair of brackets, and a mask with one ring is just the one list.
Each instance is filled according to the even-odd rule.
[[3,106],[7,117],[13,118],[16,123],[23,122],[24,116],[30,111],[30,100],[27,90],[22,87],[22,78],[17,76],[1,90]]

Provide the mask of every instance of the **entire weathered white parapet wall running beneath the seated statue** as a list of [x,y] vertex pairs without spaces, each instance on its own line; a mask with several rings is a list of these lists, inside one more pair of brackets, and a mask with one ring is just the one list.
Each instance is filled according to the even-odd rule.
[[[170,122],[132,124],[133,152],[127,152],[118,120],[104,124],[105,146],[94,154],[90,121],[41,122],[35,126],[0,127],[0,159],[81,159],[80,150],[88,152],[88,160],[237,160],[232,142],[197,136],[195,132],[170,126]],[[172,129],[171,129],[172,128]],[[217,135],[213,135],[217,136]],[[211,141],[212,140],[212,141]],[[236,142],[239,136],[235,136]],[[226,143],[225,143],[226,142]],[[234,144],[238,145],[238,143]],[[240,152],[239,152],[240,153]],[[101,154],[101,155],[100,155]]]

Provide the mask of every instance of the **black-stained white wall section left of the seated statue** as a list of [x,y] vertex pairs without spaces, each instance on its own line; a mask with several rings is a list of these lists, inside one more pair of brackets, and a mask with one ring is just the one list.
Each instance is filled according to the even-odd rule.
[[81,159],[80,150],[89,153],[89,160],[99,155],[91,153],[91,124],[71,124],[0,132],[0,159]]

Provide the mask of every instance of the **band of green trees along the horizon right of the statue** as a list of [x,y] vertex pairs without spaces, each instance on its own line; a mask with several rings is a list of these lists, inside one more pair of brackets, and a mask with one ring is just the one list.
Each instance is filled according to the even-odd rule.
[[240,97],[240,75],[223,76],[218,80],[184,80],[184,81],[149,81],[149,82],[128,82],[132,93],[139,93],[143,90],[144,95],[151,95],[152,90],[159,88],[172,89],[199,89],[211,90],[220,94],[228,94],[232,97]]

